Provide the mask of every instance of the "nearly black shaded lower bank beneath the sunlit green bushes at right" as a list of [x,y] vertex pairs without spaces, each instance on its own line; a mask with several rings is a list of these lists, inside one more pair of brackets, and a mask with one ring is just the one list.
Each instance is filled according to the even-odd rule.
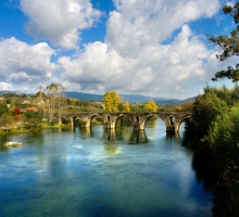
[[[213,216],[239,216],[239,149],[213,146],[200,141],[197,131],[187,131],[183,145],[193,150],[192,167],[198,180],[214,192]],[[194,142],[193,142],[194,141]]]

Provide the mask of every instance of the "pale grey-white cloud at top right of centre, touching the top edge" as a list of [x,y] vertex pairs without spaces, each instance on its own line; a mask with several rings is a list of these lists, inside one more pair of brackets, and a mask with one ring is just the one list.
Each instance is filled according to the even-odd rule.
[[211,17],[218,0],[114,0],[116,11],[108,22],[106,43],[123,55],[134,56],[142,47],[172,37],[184,24]]

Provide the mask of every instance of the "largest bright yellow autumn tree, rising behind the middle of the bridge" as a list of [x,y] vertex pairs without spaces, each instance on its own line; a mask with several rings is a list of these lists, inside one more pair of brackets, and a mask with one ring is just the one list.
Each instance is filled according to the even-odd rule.
[[109,112],[118,112],[118,105],[121,103],[121,97],[116,91],[106,91],[103,97],[103,104]]

